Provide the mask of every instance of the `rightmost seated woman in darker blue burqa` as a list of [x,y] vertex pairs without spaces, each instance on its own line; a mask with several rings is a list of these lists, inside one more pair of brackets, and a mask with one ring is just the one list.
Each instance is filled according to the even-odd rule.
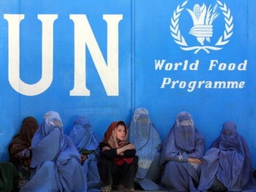
[[252,158],[246,140],[236,132],[236,124],[222,125],[219,137],[203,157],[199,191],[256,191]]

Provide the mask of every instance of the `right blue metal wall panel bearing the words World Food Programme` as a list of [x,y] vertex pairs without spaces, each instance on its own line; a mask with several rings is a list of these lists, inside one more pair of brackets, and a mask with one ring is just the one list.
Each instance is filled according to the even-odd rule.
[[[213,35],[209,42],[205,39],[204,45],[191,35],[194,23],[188,9],[193,12],[195,4],[200,7],[205,4],[207,9],[212,5],[212,12],[218,5],[218,17],[212,23]],[[247,7],[251,10],[249,15]],[[207,149],[218,137],[222,123],[235,121],[238,132],[246,138],[251,151],[255,151],[254,10],[255,3],[251,1],[249,5],[247,1],[135,1],[135,107],[149,109],[162,138],[177,113],[188,111],[194,116],[197,129],[205,135]],[[222,46],[218,45],[220,37]],[[211,60],[218,62],[212,70]],[[191,70],[194,68],[192,64],[190,69],[190,63],[196,61],[197,70]],[[163,68],[157,68],[157,63],[162,62]],[[182,65],[176,70],[174,63]],[[222,66],[227,68],[222,70],[221,63],[226,63],[227,66]],[[246,69],[239,70],[240,63],[247,63]],[[244,81],[244,86],[205,88],[204,84],[199,88],[202,80],[213,84]],[[173,85],[174,81],[179,83]],[[255,166],[256,156],[252,154]]]

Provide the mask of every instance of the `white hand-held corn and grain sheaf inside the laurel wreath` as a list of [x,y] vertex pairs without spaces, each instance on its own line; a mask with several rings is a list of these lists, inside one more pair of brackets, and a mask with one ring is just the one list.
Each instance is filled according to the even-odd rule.
[[201,7],[199,4],[194,5],[193,11],[187,9],[190,13],[194,26],[190,29],[190,34],[197,38],[197,41],[204,45],[204,40],[210,42],[210,37],[213,36],[213,21],[219,16],[216,12],[218,5],[216,4],[213,9],[210,5],[207,9],[205,4]]

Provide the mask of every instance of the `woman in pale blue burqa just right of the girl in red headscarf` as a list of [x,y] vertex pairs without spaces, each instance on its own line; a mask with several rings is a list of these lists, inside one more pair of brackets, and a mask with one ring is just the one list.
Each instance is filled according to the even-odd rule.
[[155,181],[159,179],[161,172],[161,138],[146,108],[134,111],[129,126],[129,141],[135,145],[139,157],[135,182],[144,190],[159,190]]

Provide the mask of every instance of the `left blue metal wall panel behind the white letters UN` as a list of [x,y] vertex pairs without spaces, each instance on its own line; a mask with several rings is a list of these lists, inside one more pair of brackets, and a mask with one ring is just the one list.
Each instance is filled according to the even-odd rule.
[[[0,96],[2,117],[0,144],[4,146],[0,149],[1,160],[7,159],[7,146],[10,140],[20,129],[23,118],[29,115],[35,116],[38,123],[41,123],[45,112],[55,110],[62,117],[66,133],[71,129],[78,115],[87,115],[93,129],[100,137],[112,121],[124,119],[127,123],[129,122],[132,107],[130,1],[65,1],[65,3],[63,1],[1,1],[0,7],[0,90],[2,93]],[[13,90],[9,83],[9,23],[4,19],[4,14],[5,16],[6,14],[24,14],[24,19],[20,22],[20,78],[26,84],[35,84],[41,78],[42,23],[38,20],[38,14],[57,14],[57,19],[53,24],[53,78],[51,85],[43,93],[33,96],[20,94]],[[87,16],[94,38],[105,60],[103,65],[110,65],[113,61],[108,61],[108,59],[117,56],[119,85],[116,95],[107,94],[103,85],[104,80],[99,76],[91,56],[93,51],[90,50],[88,44],[87,46],[84,44],[84,48],[86,48],[86,87],[90,90],[90,96],[70,95],[70,91],[74,88],[74,76],[76,75],[74,74],[74,21],[71,20],[71,15]],[[104,15],[118,15],[122,18],[117,28],[118,52],[110,53],[111,57],[107,54],[110,49],[107,47],[107,41],[113,41],[107,40],[107,27],[111,24],[104,20]],[[99,55],[94,56],[94,59],[98,58]],[[112,71],[108,73],[110,73],[109,77],[112,77]]]

